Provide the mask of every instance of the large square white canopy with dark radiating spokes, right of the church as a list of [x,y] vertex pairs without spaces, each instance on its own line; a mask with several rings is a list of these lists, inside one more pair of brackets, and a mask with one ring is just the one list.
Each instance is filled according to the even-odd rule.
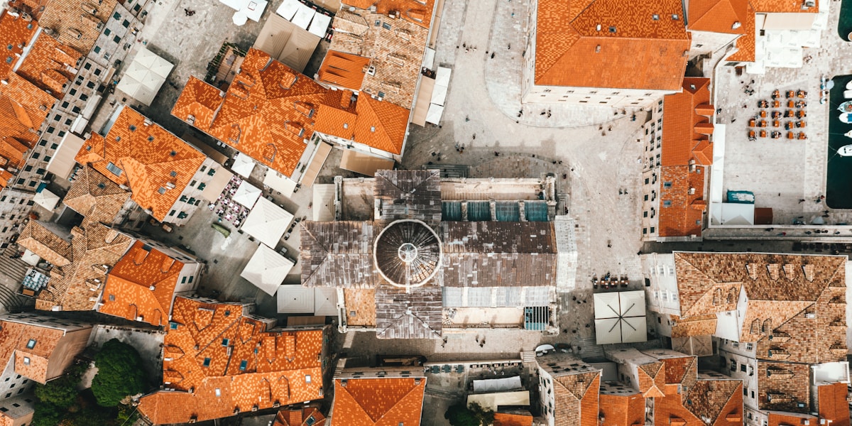
[[597,344],[648,340],[644,291],[596,293],[594,298]]

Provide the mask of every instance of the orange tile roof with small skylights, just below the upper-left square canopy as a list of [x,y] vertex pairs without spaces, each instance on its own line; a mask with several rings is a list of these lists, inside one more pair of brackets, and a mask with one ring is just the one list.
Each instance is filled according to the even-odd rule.
[[163,222],[204,158],[198,148],[123,107],[107,136],[93,134],[75,159],[130,187],[136,204]]

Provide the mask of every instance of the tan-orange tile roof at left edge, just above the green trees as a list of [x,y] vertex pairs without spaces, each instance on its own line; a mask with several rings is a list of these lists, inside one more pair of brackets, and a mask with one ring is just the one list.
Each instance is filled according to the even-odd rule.
[[[0,362],[9,365],[14,356],[14,371],[21,376],[46,383],[48,379],[48,361],[65,332],[37,325],[21,324],[14,321],[0,320]],[[27,348],[31,339],[35,346]],[[29,365],[25,364],[28,358]]]

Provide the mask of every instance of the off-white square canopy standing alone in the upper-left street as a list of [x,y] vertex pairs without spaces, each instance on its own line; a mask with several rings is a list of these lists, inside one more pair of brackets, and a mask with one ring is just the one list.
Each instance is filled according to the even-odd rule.
[[150,106],[174,67],[168,60],[143,47],[130,62],[116,89]]

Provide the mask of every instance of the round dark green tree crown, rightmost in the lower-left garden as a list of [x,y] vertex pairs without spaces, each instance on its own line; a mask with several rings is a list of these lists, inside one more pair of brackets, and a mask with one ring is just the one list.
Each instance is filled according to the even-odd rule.
[[145,389],[145,372],[139,352],[112,339],[95,355],[98,373],[92,379],[92,393],[101,406],[118,406],[126,396]]

